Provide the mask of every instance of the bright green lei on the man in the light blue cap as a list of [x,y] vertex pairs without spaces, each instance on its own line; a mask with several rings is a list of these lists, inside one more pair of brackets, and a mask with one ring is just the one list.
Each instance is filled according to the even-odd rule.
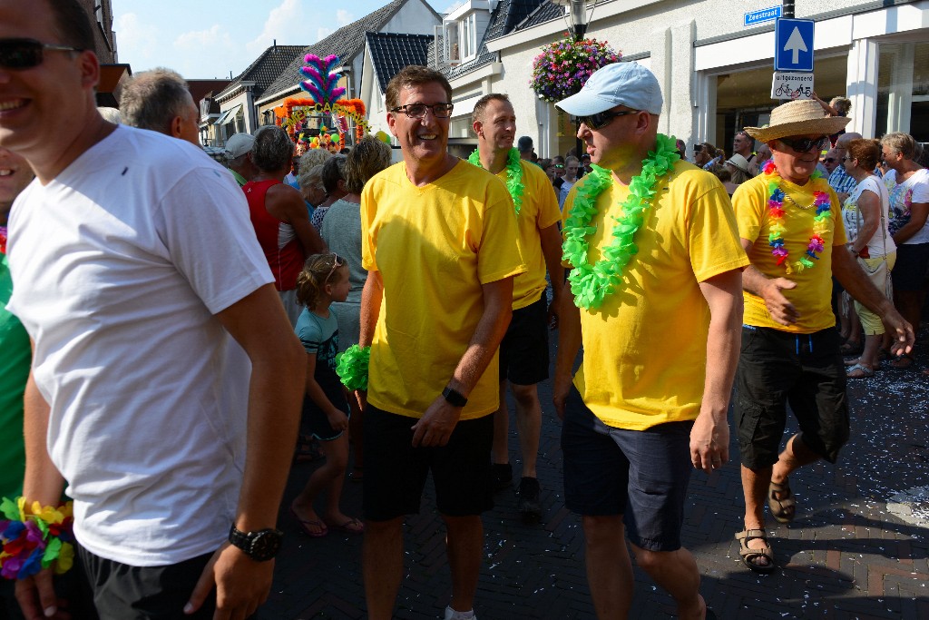
[[599,308],[616,286],[622,285],[622,270],[638,252],[633,237],[645,221],[644,214],[655,195],[655,186],[680,158],[674,138],[658,134],[655,151],[649,151],[648,157],[642,161],[642,172],[630,181],[629,196],[620,205],[620,216],[614,218],[613,243],[603,249],[603,257],[595,265],[587,261],[590,244],[586,237],[596,231],[596,227],[590,225],[596,215],[596,198],[612,184],[612,174],[593,165],[594,171],[585,175],[583,182],[578,184],[574,203],[565,221],[565,243],[562,245],[564,260],[574,267],[568,281],[578,308]]

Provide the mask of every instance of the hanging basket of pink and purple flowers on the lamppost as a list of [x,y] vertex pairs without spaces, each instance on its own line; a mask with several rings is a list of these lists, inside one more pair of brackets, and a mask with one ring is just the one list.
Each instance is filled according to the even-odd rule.
[[539,99],[556,103],[581,90],[597,69],[621,59],[622,54],[604,41],[566,37],[544,46],[532,60],[530,86]]

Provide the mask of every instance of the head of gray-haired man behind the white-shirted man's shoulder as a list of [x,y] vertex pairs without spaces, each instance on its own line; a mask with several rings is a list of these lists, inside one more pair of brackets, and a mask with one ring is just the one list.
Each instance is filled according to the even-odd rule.
[[170,69],[159,67],[138,73],[124,87],[119,107],[125,125],[200,146],[200,111],[187,82]]

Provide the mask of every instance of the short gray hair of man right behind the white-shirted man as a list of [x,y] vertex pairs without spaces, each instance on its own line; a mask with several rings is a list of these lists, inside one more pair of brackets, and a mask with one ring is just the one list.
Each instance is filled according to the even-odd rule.
[[175,117],[188,113],[191,100],[184,78],[158,67],[138,73],[124,86],[119,107],[125,125],[167,134]]

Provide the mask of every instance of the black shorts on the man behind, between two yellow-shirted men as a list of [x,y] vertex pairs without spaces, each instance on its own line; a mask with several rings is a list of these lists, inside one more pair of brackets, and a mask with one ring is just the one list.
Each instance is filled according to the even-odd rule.
[[500,380],[531,386],[548,378],[548,307],[545,292],[529,306],[513,310],[500,342]]

